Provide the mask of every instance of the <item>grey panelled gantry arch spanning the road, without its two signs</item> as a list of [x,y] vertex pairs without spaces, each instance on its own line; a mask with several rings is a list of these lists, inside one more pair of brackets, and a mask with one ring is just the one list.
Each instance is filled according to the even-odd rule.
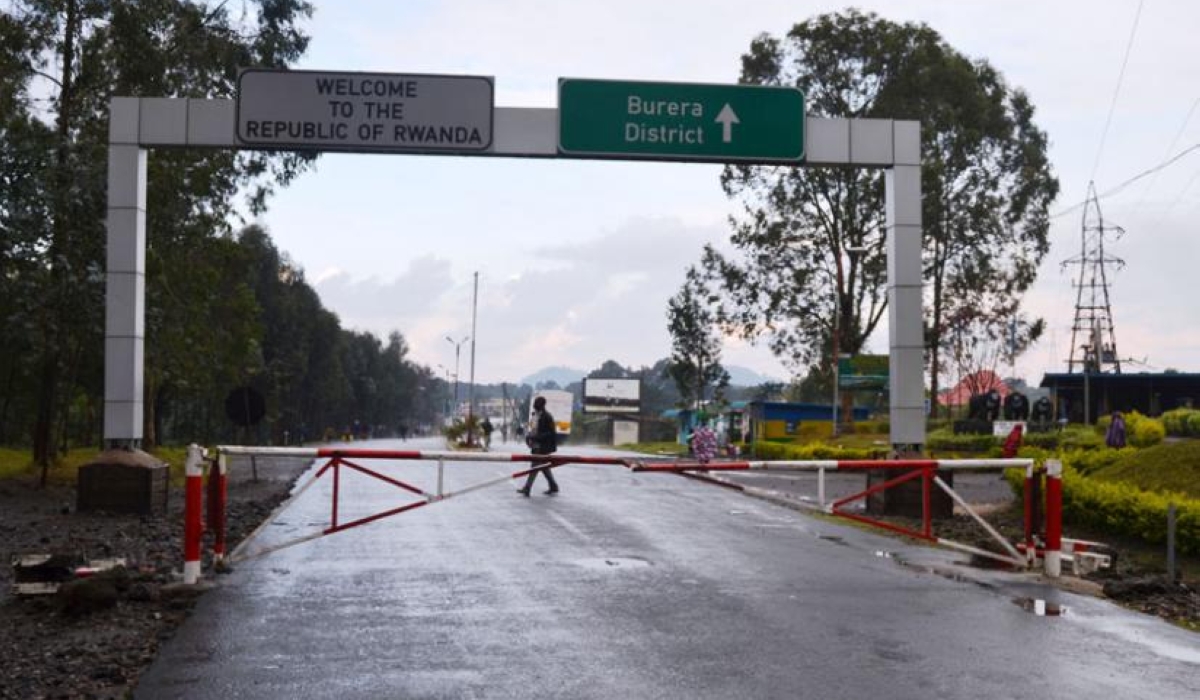
[[[107,448],[139,448],[143,437],[148,150],[259,148],[239,138],[238,108],[235,100],[114,97],[109,103],[104,318]],[[563,146],[558,108],[494,107],[490,118],[491,140],[473,155],[581,157]],[[890,443],[906,451],[919,451],[925,443],[920,125],[890,119],[803,119],[804,156],[799,167],[887,170]],[[726,133],[730,124],[728,120],[724,122]],[[622,160],[626,156],[607,154],[602,157]],[[644,156],[629,155],[628,160],[644,160]],[[721,157],[656,160],[725,162]],[[728,160],[755,161],[752,157]],[[775,161],[766,158],[763,162]]]

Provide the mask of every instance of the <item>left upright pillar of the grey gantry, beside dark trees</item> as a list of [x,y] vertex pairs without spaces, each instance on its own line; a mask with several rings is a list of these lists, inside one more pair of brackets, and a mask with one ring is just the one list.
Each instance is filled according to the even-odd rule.
[[114,97],[108,121],[104,445],[139,447],[145,339],[146,151],[139,101]]

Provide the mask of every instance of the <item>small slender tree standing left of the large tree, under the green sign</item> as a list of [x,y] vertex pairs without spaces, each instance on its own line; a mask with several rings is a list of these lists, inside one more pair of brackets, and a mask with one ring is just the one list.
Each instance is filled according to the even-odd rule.
[[712,387],[720,400],[730,384],[721,366],[721,336],[710,304],[716,298],[695,270],[667,301],[667,330],[671,331],[671,363],[667,372],[679,388],[682,403],[700,408]]

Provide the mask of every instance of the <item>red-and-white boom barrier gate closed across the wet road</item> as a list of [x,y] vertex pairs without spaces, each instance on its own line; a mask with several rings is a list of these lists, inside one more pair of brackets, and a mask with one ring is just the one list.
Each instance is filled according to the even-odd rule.
[[[203,489],[200,478],[203,474],[204,457],[206,453],[197,445],[191,445],[187,454],[187,498],[186,498],[186,513],[185,513],[185,539],[184,539],[184,580],[187,584],[194,584],[199,578],[200,573],[200,538],[203,534],[203,523],[200,521],[200,508],[202,508],[202,496]],[[634,460],[629,457],[607,457],[607,456],[582,456],[582,455],[533,455],[533,454],[503,454],[503,453],[463,453],[463,451],[424,451],[424,450],[373,450],[373,449],[349,449],[349,448],[256,448],[256,447],[218,447],[217,459],[215,471],[210,471],[209,477],[209,527],[214,531],[214,556],[216,561],[222,561],[226,556],[226,533],[224,533],[224,520],[226,520],[226,484],[227,484],[227,460],[230,455],[257,455],[257,456],[280,456],[280,457],[304,457],[312,460],[328,460],[317,473],[305,483],[284,504],[282,504],[276,513],[266,522],[262,523],[258,530],[252,532],[238,548],[229,555],[229,561],[239,561],[250,557],[257,557],[271,551],[277,551],[302,542],[308,542],[332,534],[335,532],[342,532],[358,527],[360,525],[366,525],[383,517],[391,515],[397,515],[422,505],[427,505],[436,501],[444,501],[455,496],[462,496],[486,486],[494,484],[509,481],[520,477],[524,477],[535,469],[542,468],[554,468],[562,465],[619,465],[630,468],[635,472],[672,472],[679,473],[682,475],[698,478],[706,481],[720,484],[722,486],[728,486],[737,489],[739,491],[745,491],[749,493],[755,493],[763,491],[761,489],[755,489],[751,486],[745,486],[742,484],[736,484],[721,479],[716,475],[709,474],[710,472],[730,472],[730,471],[774,471],[774,472],[817,472],[818,474],[818,502],[820,508],[841,517],[847,517],[851,520],[857,520],[860,522],[866,522],[869,525],[889,530],[893,532],[899,532],[901,534],[914,537],[917,539],[924,539],[928,542],[937,543],[953,549],[959,549],[971,554],[976,554],[983,557],[995,558],[1006,563],[1010,563],[1016,567],[1027,567],[1036,561],[1034,550],[1036,544],[1033,542],[1032,534],[1032,501],[1031,496],[1034,467],[1033,461],[1028,459],[986,459],[986,460],[792,460],[792,461],[738,461],[738,462],[695,462],[695,461],[648,461],[648,460]],[[400,479],[392,478],[390,475],[383,474],[376,469],[367,468],[359,463],[364,460],[389,460],[389,461],[436,461],[437,462],[437,486],[436,491],[428,492],[420,489],[413,484],[401,481]],[[497,477],[488,479],[478,484],[473,484],[457,491],[448,492],[443,489],[443,469],[446,461],[455,462],[529,462],[533,466],[524,469],[518,469],[510,474],[503,477]],[[1006,468],[1025,468],[1026,469],[1026,542],[1024,543],[1025,552],[1018,551],[1007,539],[1004,539],[995,528],[991,527],[973,508],[970,507],[958,493],[950,489],[946,481],[943,481],[938,475],[938,471],[997,471]],[[406,503],[397,508],[384,510],[373,515],[359,517],[349,522],[342,521],[338,517],[338,496],[340,496],[340,481],[342,469],[350,469],[359,474],[384,481],[392,486],[396,486],[403,491],[418,496],[420,499]],[[901,472],[898,477],[886,480],[882,484],[876,484],[860,491],[858,493],[840,498],[832,504],[826,503],[826,489],[824,489],[824,473],[826,471],[858,471],[864,469],[895,469]],[[702,473],[696,473],[702,472]],[[1062,548],[1062,465],[1054,461],[1046,462],[1048,481],[1046,481],[1046,538],[1045,538],[1045,572],[1049,576],[1058,576],[1061,573],[1061,548]],[[325,474],[332,475],[332,504],[330,511],[330,523],[329,527],[299,537],[281,544],[271,545],[265,549],[257,550],[252,554],[244,551],[248,543],[251,543],[254,537],[265,528],[271,520],[275,519],[282,510],[294,503],[310,486],[312,486],[318,479]],[[868,517],[858,513],[850,513],[844,509],[850,502],[866,498],[872,493],[883,491],[898,484],[905,481],[920,479],[923,483],[922,489],[922,528],[912,530],[894,525],[892,522],[884,522],[877,519]],[[950,498],[967,514],[970,514],[1007,552],[1004,555],[997,555],[996,552],[990,552],[983,549],[973,548],[962,543],[948,540],[934,536],[932,532],[932,508],[931,508],[931,491],[934,486],[937,486],[946,491]]]

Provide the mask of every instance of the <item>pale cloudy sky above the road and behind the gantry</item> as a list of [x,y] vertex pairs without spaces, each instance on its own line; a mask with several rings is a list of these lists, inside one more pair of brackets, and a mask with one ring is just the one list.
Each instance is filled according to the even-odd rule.
[[[736,83],[754,36],[845,5],[790,0],[317,0],[307,58],[323,71],[493,76],[496,104],[554,107],[559,77]],[[1194,0],[887,0],[856,5],[923,22],[1025,89],[1062,184],[1051,252],[1028,298],[1049,324],[1018,361],[1037,383],[1064,371],[1088,180],[1100,192],[1200,143]],[[1133,41],[1130,43],[1130,36]],[[1126,48],[1132,47],[1126,60]],[[1123,74],[1123,77],[1122,77]],[[1120,90],[1117,89],[1120,80]],[[1115,107],[1114,107],[1115,106]],[[1111,118],[1110,118],[1111,110]],[[666,301],[733,205],[720,166],[581,160],[325,155],[262,223],[343,325],[400,330],[413,358],[451,372],[470,334],[475,376],[547,365],[644,365],[670,352]],[[1109,252],[1118,354],[1200,371],[1200,150],[1102,202],[1126,229]],[[871,349],[886,352],[886,334]],[[463,346],[461,372],[468,373]],[[726,364],[785,377],[763,347]],[[438,370],[439,372],[442,370]],[[1007,372],[1006,372],[1007,373]]]

